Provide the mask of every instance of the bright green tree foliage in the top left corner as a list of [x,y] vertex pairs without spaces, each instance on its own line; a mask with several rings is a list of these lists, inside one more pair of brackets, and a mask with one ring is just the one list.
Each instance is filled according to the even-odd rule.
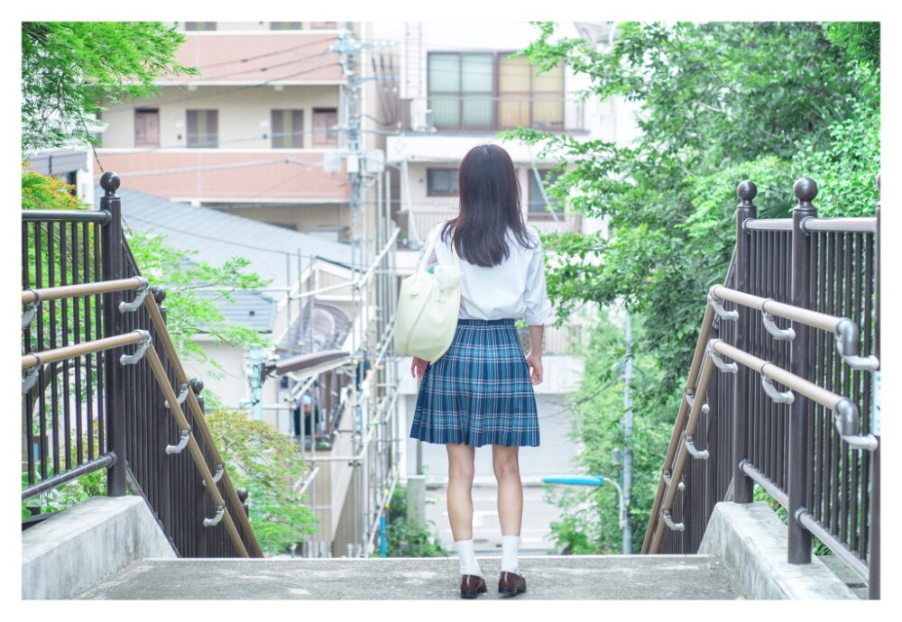
[[22,149],[96,139],[101,102],[147,97],[165,75],[196,75],[175,61],[185,41],[159,22],[22,23]]

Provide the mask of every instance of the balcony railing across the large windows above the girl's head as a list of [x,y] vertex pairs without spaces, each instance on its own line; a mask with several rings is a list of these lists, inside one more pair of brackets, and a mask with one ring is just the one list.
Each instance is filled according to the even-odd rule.
[[496,133],[517,127],[546,132],[588,132],[585,103],[563,96],[417,97],[407,102],[409,132]]

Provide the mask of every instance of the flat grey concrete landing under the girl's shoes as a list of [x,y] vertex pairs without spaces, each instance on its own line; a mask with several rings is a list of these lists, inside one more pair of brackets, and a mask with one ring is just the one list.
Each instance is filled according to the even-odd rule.
[[[477,556],[488,592],[501,557]],[[338,559],[148,559],[132,563],[78,599],[460,599],[456,557]],[[518,600],[745,599],[710,555],[520,556],[528,590]]]

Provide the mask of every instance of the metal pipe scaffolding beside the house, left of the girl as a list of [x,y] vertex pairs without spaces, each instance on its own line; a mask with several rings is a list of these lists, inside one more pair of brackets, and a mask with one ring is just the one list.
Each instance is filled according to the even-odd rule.
[[[298,347],[287,349],[283,339],[281,350],[312,353],[333,347],[348,356],[331,367],[286,374],[287,394],[280,403],[262,407],[276,411],[281,429],[283,416],[288,417],[289,428],[292,424],[299,428],[292,435],[309,470],[296,481],[295,490],[305,495],[305,505],[321,522],[318,532],[301,546],[304,557],[373,553],[379,545],[382,514],[403,475],[400,456],[405,436],[400,429],[393,349],[400,229],[391,220],[389,181],[388,171],[375,177],[376,200],[371,202],[375,209],[364,218],[359,243],[352,241],[350,270],[345,268],[343,274],[330,262],[312,261],[289,294],[286,335]],[[342,321],[341,312],[348,321]],[[330,317],[338,318],[338,343],[321,337]]]

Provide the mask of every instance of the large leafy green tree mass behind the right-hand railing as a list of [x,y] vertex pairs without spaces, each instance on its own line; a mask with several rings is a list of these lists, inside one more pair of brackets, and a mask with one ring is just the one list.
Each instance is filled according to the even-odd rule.
[[[634,351],[648,358],[648,373],[634,381],[631,444],[632,511],[642,526],[650,498],[644,506],[649,490],[640,481],[646,475],[638,456],[649,454],[642,468],[651,470],[657,486],[705,294],[723,281],[731,258],[739,182],[748,178],[758,186],[762,218],[789,215],[796,202],[791,188],[802,176],[817,181],[821,214],[873,214],[879,24],[621,23],[604,50],[558,37],[553,23],[537,26],[537,41],[521,54],[539,73],[563,63],[587,78],[580,96],[639,106],[640,136],[630,144],[530,128],[501,136],[538,145],[538,157],[560,160],[548,195],[607,225],[591,235],[543,236],[560,260],[548,266],[548,292],[559,324],[584,303],[622,303],[643,327]],[[585,395],[601,389],[603,370],[594,365],[611,363],[611,356],[604,347],[587,353]],[[608,412],[604,404],[585,404],[591,405],[587,412],[575,409],[575,431],[586,447],[580,460],[588,472],[603,470],[611,448],[603,437],[620,443],[621,427],[601,414]],[[643,426],[648,438],[640,438]],[[649,444],[655,436],[662,441]],[[584,492],[574,502],[590,494],[600,499],[610,491]],[[584,512],[567,517],[561,533],[576,534],[582,520],[592,537],[575,542],[574,535],[575,545],[610,547],[612,521],[591,518]]]

